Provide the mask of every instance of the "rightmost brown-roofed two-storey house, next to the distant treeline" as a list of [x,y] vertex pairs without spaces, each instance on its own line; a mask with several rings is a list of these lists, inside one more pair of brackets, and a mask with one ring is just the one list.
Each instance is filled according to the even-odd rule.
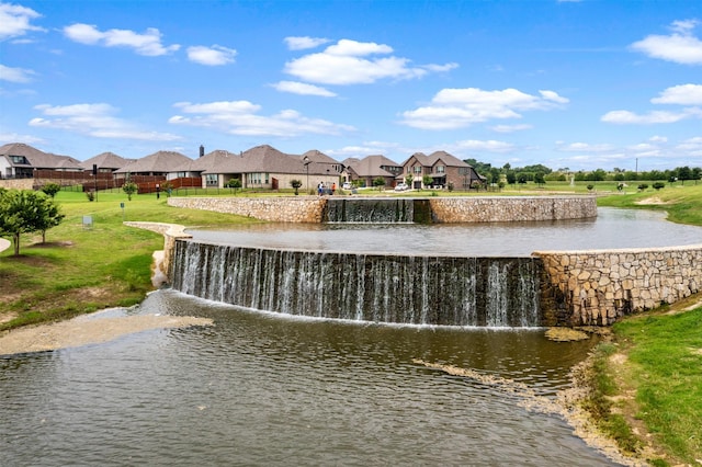
[[[424,183],[424,176],[431,179],[431,182]],[[403,175],[399,179],[411,179],[408,184],[414,189],[453,186],[456,190],[468,190],[476,182],[485,183],[484,178],[472,166],[446,151],[435,151],[429,156],[422,152],[411,155],[403,162]]]

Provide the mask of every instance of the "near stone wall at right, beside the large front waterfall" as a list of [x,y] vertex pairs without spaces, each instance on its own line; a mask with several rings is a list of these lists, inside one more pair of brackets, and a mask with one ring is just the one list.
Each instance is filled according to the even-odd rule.
[[533,254],[552,285],[542,304],[562,324],[609,326],[702,289],[702,244]]

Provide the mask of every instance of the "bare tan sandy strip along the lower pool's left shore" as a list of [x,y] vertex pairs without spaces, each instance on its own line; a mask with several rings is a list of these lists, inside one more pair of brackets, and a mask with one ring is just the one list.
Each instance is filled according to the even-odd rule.
[[20,328],[0,334],[0,355],[43,352],[107,342],[152,329],[211,326],[207,318],[167,315],[101,317],[87,315],[68,321]]

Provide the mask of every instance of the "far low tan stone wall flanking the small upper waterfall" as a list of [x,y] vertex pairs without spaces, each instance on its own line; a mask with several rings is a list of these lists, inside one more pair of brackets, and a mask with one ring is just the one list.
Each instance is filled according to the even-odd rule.
[[[430,197],[429,203],[434,223],[507,223],[597,217],[595,196],[455,196]],[[321,223],[327,198],[169,197],[168,204],[276,223]]]

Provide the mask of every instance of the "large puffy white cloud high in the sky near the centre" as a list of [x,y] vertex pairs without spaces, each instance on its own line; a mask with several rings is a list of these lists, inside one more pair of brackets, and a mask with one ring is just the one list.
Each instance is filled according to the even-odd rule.
[[420,78],[430,71],[449,70],[455,64],[411,67],[410,60],[392,54],[385,44],[341,39],[321,53],[285,64],[284,71],[299,80],[322,84],[370,84],[381,79]]

